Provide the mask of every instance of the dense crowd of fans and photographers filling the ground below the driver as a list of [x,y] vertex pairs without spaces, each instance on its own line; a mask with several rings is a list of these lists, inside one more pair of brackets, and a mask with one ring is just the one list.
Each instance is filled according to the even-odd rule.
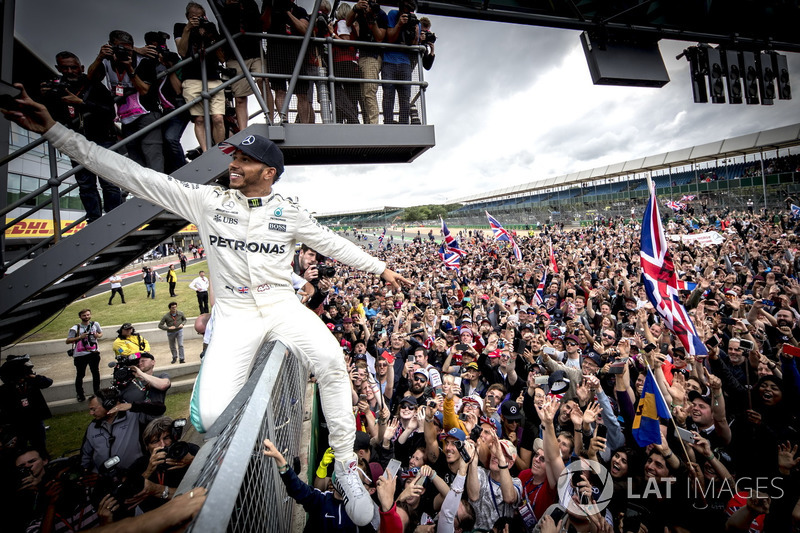
[[[303,247],[294,272],[350,369],[355,451],[375,504],[359,530],[796,530],[800,225],[789,214],[711,218],[666,224],[725,238],[670,244],[702,358],[647,299],[635,221],[519,235],[522,261],[490,232],[462,231],[460,270],[444,268],[432,233],[389,236],[374,253],[413,280],[399,292]],[[123,529],[173,500],[197,448],[161,416],[169,379],[153,374],[147,341],[129,324],[117,334],[115,352],[141,356],[130,381],[115,371],[116,387],[89,397],[76,459],[51,461],[38,424],[13,444],[3,436],[10,531]],[[648,365],[658,391],[643,391]],[[2,399],[41,423],[35,391],[49,380],[24,359],[1,370]],[[654,392],[671,418],[642,447],[635,415]],[[269,441],[264,454],[309,511],[307,530],[356,531],[329,477],[332,450],[309,465],[314,486]]]

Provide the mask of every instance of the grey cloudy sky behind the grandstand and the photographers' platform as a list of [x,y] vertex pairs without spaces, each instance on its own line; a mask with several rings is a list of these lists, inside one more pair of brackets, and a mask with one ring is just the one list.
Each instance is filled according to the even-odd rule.
[[[139,45],[147,31],[171,33],[184,8],[182,0],[18,0],[16,33],[48,61],[69,49],[88,65],[109,30],[127,30]],[[425,77],[436,147],[411,164],[288,168],[279,192],[318,213],[443,203],[800,122],[796,100],[693,103],[688,63],[675,60],[692,43],[661,41],[672,80],[661,89],[594,86],[578,32],[430,18],[437,59]],[[787,55],[797,84],[800,56]],[[191,131],[184,141],[196,145]]]

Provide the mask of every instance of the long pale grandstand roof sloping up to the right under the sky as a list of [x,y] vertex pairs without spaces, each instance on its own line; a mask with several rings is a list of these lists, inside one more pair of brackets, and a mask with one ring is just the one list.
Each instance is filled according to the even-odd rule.
[[469,203],[800,146],[800,123],[448,200]]

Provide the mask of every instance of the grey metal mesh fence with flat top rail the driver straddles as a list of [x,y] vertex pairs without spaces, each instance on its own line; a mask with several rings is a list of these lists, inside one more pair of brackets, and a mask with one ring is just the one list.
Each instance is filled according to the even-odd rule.
[[206,433],[206,443],[178,493],[208,489],[190,532],[289,532],[294,500],[275,461],[262,453],[269,438],[289,464],[299,456],[308,374],[280,342],[264,343],[236,398]]

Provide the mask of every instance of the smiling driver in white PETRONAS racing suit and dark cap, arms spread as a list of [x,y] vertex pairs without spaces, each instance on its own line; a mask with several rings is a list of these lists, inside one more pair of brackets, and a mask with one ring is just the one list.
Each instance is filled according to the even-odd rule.
[[235,148],[230,189],[198,185],[141,167],[57,124],[23,91],[20,111],[9,120],[42,133],[53,146],[87,169],[134,195],[172,211],[198,227],[208,250],[215,291],[214,335],[191,400],[192,423],[205,431],[245,383],[264,339],[284,342],[317,377],[336,454],[337,488],[357,525],[373,517],[373,505],[356,469],[355,424],[341,348],[324,323],[295,296],[291,259],[295,242],[342,263],[380,274],[395,289],[410,282],[348,240],[321,226],[299,205],[272,191],[283,172],[283,154],[260,136]]

